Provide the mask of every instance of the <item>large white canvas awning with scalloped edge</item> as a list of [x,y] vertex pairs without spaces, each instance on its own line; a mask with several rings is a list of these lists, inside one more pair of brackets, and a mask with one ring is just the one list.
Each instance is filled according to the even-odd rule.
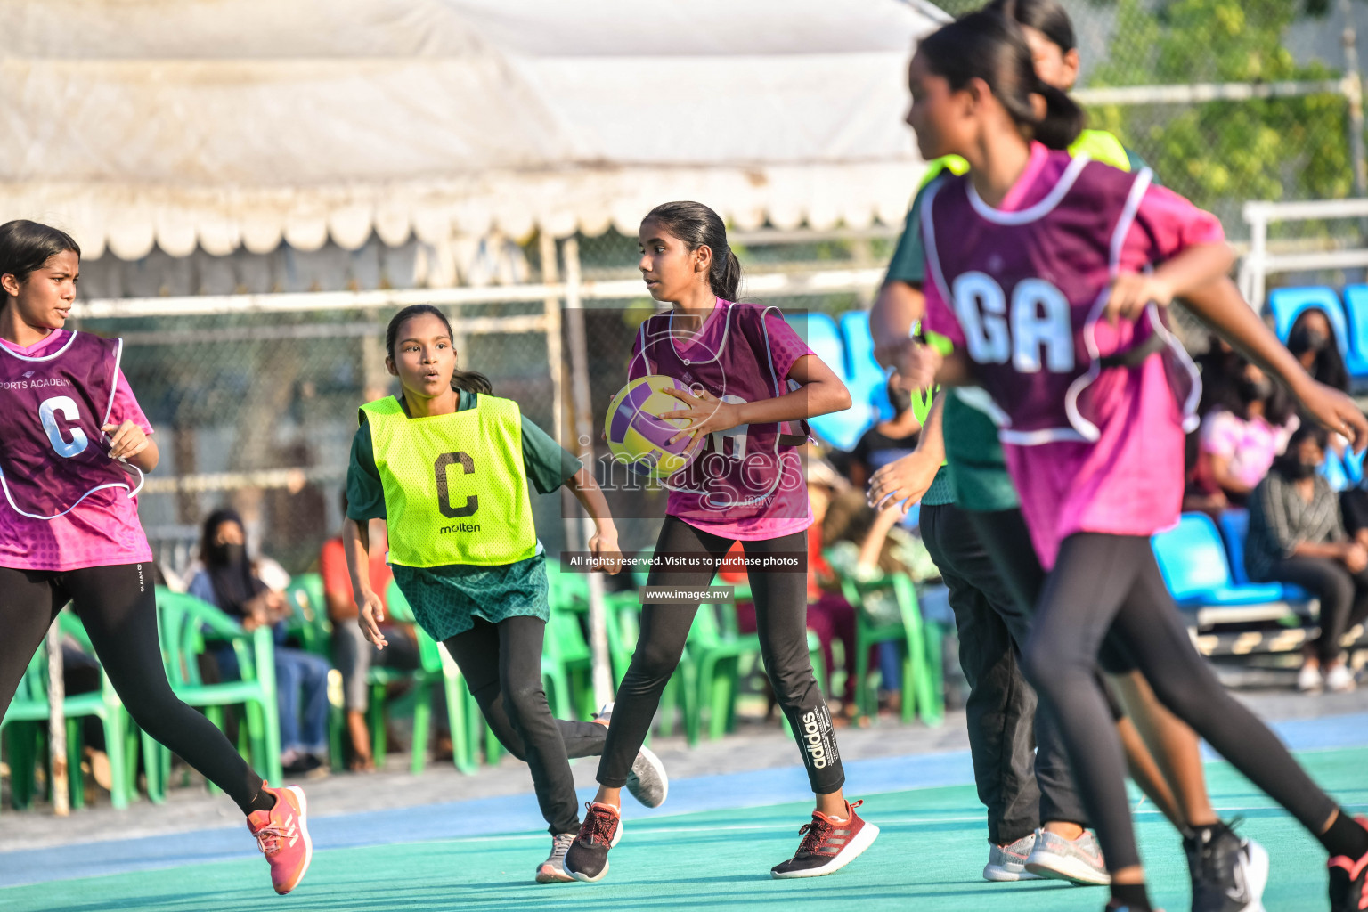
[[88,257],[899,222],[899,0],[0,0],[0,222]]

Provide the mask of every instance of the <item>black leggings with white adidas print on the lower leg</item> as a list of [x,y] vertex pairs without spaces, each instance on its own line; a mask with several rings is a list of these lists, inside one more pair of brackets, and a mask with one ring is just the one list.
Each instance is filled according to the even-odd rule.
[[[703,569],[653,566],[647,585],[700,588],[713,581],[717,566],[735,544],[687,522],[668,515],[655,543],[655,554],[707,555]],[[747,558],[766,554],[806,555],[807,533],[798,532],[778,539],[741,541]],[[761,637],[761,658],[780,708],[788,718],[807,767],[807,778],[817,794],[830,794],[845,782],[832,714],[807,654],[807,567],[796,570],[750,570],[755,598],[755,623]],[[632,654],[632,665],[617,689],[613,725],[599,762],[598,781],[610,789],[627,782],[632,760],[646,740],[646,733],[661,704],[661,690],[684,654],[696,604],[643,604],[642,633]]]

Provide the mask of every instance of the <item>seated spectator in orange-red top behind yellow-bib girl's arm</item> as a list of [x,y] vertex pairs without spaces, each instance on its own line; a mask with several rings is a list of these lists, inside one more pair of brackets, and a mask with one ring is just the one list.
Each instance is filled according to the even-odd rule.
[[[346,515],[346,492],[342,495],[342,515]],[[371,587],[379,593],[389,618],[386,592],[390,588],[390,566],[384,562],[384,525],[371,526]],[[327,602],[328,619],[332,622],[332,660],[342,673],[342,696],[346,701],[346,730],[352,738],[350,768],[354,773],[368,773],[375,768],[371,752],[371,730],[365,725],[369,708],[371,689],[367,686],[367,673],[371,666],[412,670],[419,667],[417,639],[408,625],[382,623],[380,630],[390,645],[378,649],[361,633],[357,623],[356,600],[352,598],[352,578],[346,569],[346,551],[342,536],[323,543],[319,554],[319,576],[323,577],[323,599]]]

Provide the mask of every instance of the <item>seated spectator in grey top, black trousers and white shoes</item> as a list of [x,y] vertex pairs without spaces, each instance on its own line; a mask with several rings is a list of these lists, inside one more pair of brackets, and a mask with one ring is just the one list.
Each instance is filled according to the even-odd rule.
[[1293,582],[1320,599],[1320,636],[1306,644],[1297,688],[1354,689],[1339,640],[1368,618],[1368,548],[1345,535],[1339,499],[1316,472],[1326,431],[1305,424],[1249,499],[1245,569],[1256,582]]

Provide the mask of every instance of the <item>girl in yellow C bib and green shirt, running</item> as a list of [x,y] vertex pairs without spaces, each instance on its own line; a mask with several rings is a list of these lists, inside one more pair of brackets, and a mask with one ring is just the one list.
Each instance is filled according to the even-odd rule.
[[[617,529],[594,476],[490,381],[456,366],[451,324],[415,305],[394,314],[384,360],[398,397],[361,406],[347,468],[343,531],[352,591],[365,637],[389,645],[384,606],[371,585],[371,520],[384,520],[394,581],[419,625],[446,645],[480,711],[509,753],[527,760],[551,833],[536,881],[570,881],[565,852],[580,829],[569,757],[598,756],[607,714],[555,719],[542,689],[542,640],[550,617],[546,558],[528,485],[568,487],[594,518],[596,567],[621,569]],[[644,747],[627,783],[647,807],[665,801],[665,770]]]

